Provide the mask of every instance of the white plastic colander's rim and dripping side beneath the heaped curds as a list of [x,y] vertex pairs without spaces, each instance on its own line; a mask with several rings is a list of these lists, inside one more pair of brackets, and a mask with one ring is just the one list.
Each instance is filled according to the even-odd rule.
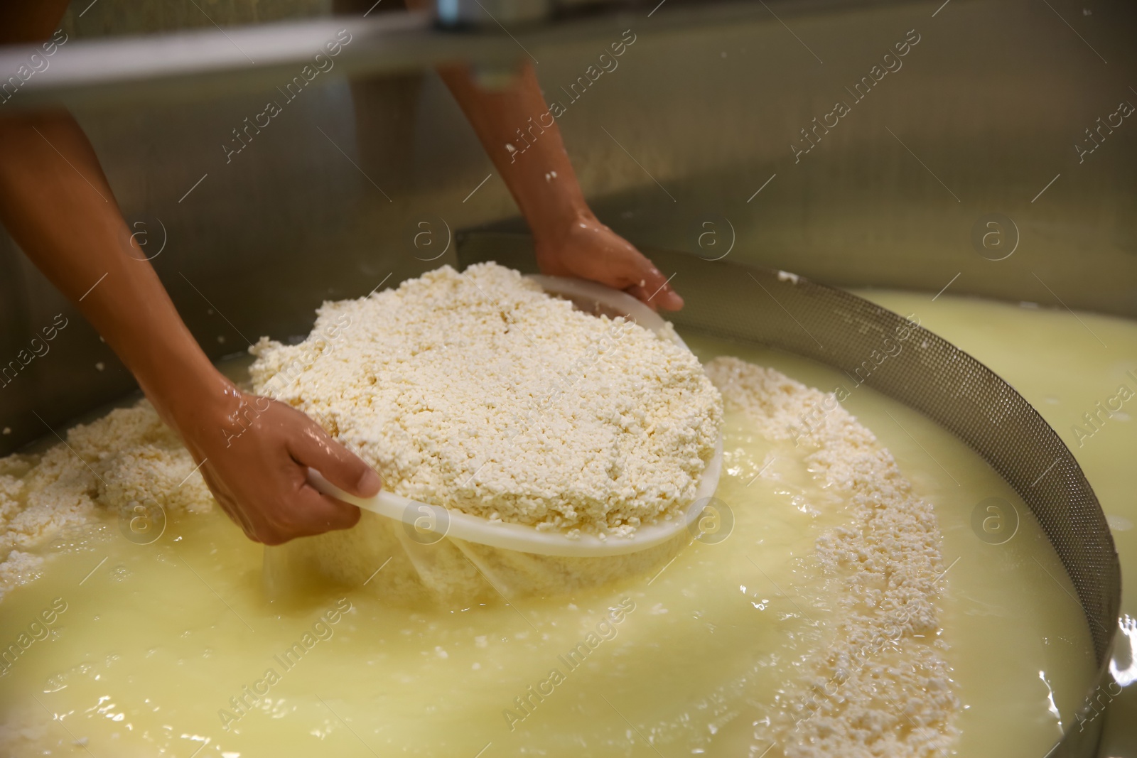
[[[529,278],[546,292],[571,300],[580,310],[623,316],[659,339],[688,349],[670,324],[624,292],[581,280]],[[309,469],[308,481],[316,490],[358,506],[365,511],[364,518],[351,530],[266,548],[265,577],[271,593],[279,594],[281,586],[294,584],[300,576],[368,584],[375,576],[372,572],[383,566],[381,578],[371,586],[381,594],[415,600],[424,591],[446,605],[463,606],[482,594],[487,584],[503,595],[595,586],[650,570],[697,536],[697,520],[719,485],[721,472],[720,435],[686,514],[646,523],[630,536],[568,536],[523,524],[491,522],[385,490],[372,498],[358,498]],[[389,566],[393,559],[397,563]]]

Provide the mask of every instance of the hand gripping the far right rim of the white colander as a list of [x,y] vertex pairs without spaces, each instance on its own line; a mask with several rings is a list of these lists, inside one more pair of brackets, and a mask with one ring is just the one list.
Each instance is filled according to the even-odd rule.
[[537,265],[545,274],[599,282],[623,290],[656,310],[683,307],[683,299],[671,289],[667,277],[590,213],[567,225],[539,232],[536,251]]

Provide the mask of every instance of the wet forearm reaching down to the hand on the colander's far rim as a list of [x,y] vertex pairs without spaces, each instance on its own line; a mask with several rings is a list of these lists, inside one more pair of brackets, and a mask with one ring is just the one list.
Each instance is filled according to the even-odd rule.
[[526,63],[514,85],[503,91],[479,88],[465,66],[447,66],[439,74],[534,235],[591,215],[531,65]]

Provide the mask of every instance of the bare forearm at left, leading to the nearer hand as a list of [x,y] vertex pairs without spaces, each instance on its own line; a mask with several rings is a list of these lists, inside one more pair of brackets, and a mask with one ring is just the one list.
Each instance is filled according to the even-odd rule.
[[[94,151],[65,111],[0,118],[0,220],[94,325],[167,420],[227,383],[132,244]],[[186,397],[189,395],[189,397]]]

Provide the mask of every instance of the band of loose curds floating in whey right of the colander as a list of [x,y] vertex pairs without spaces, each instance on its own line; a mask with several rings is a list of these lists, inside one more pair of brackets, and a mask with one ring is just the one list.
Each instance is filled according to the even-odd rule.
[[816,541],[839,601],[822,652],[785,684],[765,736],[787,758],[946,755],[958,738],[960,699],[939,634],[938,582],[948,567],[931,503],[833,394],[738,358],[706,369],[729,410],[769,440],[811,450],[811,473],[848,498],[853,515]]

